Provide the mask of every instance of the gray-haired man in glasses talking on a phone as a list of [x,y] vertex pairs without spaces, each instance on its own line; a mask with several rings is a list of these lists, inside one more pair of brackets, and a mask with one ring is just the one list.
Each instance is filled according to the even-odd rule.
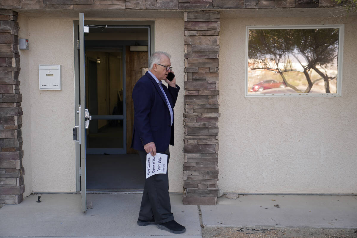
[[[176,85],[170,57],[162,51],[152,54],[149,71],[136,82],[132,93],[134,130],[131,147],[139,150],[144,173],[148,153],[152,156],[156,152],[167,154],[169,164],[169,144],[174,145],[174,106],[180,87]],[[168,88],[161,84],[162,80],[169,84]],[[168,172],[146,178],[137,224],[156,224],[159,229],[176,234],[186,231],[174,221],[171,212]]]

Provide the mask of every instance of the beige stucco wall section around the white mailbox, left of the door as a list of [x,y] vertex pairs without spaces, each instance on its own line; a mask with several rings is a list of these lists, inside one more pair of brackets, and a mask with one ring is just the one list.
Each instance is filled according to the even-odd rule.
[[[19,17],[23,95],[25,196],[34,192],[75,192],[73,22]],[[62,90],[39,90],[40,64],[61,65]]]

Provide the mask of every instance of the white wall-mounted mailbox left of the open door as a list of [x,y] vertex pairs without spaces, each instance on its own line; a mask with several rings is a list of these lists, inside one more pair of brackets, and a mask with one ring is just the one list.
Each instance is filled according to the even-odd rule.
[[61,66],[39,65],[40,90],[61,90]]

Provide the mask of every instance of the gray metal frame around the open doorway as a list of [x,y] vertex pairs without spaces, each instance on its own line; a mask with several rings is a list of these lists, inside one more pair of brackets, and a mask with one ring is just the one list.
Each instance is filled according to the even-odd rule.
[[[132,27],[138,27],[138,26],[149,26],[148,28],[148,43],[149,43],[149,59],[151,53],[155,52],[155,21],[141,21],[141,20],[85,20],[84,21],[85,25],[108,25],[108,26],[123,26],[130,28]],[[78,50],[78,38],[79,36],[79,20],[74,20],[73,21],[73,46],[74,46],[74,80],[75,80],[75,107],[74,107],[74,113],[75,113],[75,125],[79,120],[79,115],[77,114],[78,110],[78,105],[79,105],[79,50]],[[124,47],[125,49],[125,47]],[[124,50],[125,53],[125,50]],[[125,64],[125,54],[123,54],[124,57],[124,64]],[[149,62],[148,59],[148,62]],[[123,82],[125,83],[125,71],[124,70],[124,75],[123,75]],[[124,111],[123,111],[124,113]],[[124,118],[126,120],[126,118]],[[124,145],[126,146],[126,145]],[[76,163],[76,191],[80,192],[81,191],[81,176],[80,176],[80,145],[79,143],[76,143],[76,154],[75,154],[75,163]],[[85,171],[85,170],[84,170]]]

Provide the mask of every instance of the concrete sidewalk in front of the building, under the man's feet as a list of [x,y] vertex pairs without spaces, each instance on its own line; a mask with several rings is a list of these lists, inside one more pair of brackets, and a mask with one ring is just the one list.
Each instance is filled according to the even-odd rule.
[[186,227],[183,234],[137,226],[141,194],[87,194],[93,208],[86,213],[80,194],[36,194],[0,209],[0,237],[201,238],[200,210],[207,227],[357,228],[357,196],[240,195],[233,200],[223,195],[215,206],[185,206],[182,195],[170,197],[175,220]]

